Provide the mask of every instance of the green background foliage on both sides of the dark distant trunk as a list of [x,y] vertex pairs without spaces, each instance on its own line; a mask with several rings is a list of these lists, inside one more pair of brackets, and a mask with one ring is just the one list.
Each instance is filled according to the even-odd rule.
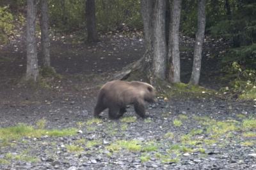
[[[84,0],[49,1],[50,25],[56,31],[72,32],[84,29],[86,24]],[[95,1],[97,29],[113,31],[128,27],[143,27],[140,16],[140,1]],[[128,26],[128,27],[127,27]]]

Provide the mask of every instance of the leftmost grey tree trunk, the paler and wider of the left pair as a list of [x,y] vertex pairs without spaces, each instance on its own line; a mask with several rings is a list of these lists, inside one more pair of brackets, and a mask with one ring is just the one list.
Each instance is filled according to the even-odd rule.
[[36,52],[36,0],[27,0],[27,70],[26,80],[36,81],[39,75]]

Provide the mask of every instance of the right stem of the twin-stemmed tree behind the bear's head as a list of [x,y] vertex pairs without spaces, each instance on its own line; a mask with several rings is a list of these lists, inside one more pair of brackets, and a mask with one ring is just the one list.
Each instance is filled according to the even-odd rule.
[[154,6],[154,37],[153,37],[153,74],[161,80],[165,79],[166,71],[166,35],[165,35],[166,1],[156,1]]

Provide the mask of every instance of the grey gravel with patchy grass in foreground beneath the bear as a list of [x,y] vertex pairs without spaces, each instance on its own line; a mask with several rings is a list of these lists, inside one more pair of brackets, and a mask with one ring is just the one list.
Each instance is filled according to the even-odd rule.
[[[44,111],[42,115],[47,119],[47,128],[76,127],[77,134],[13,141],[15,145],[1,148],[0,159],[12,154],[22,155],[25,160],[10,159],[10,164],[1,164],[0,169],[255,169],[256,136],[244,137],[243,134],[255,133],[256,129],[230,130],[214,138],[213,142],[210,140],[212,132],[207,130],[211,124],[218,126],[214,121],[235,122],[241,126],[244,119],[255,118],[255,105],[253,102],[223,101],[207,95],[175,98],[169,102],[159,98],[156,104],[148,105],[150,118],[137,118],[131,122],[108,120],[105,113],[102,122],[93,123],[92,108],[87,109],[78,102],[69,106],[55,104],[58,106],[56,110],[41,106],[33,115],[19,121],[13,116],[8,117],[7,113],[6,120],[1,117],[3,126],[15,122],[35,123]],[[13,111],[26,115],[28,109],[33,108],[13,108]],[[132,116],[134,111],[130,107],[125,117]],[[180,120],[182,125],[173,125],[173,120]],[[187,143],[189,139],[184,137],[193,129],[202,130],[191,137],[200,139],[201,143],[196,145]],[[120,146],[120,140],[135,142],[141,148]],[[68,150],[70,145],[79,146],[81,150],[72,152]],[[150,148],[148,146],[152,148],[143,149]],[[31,155],[35,162],[26,161]]]

